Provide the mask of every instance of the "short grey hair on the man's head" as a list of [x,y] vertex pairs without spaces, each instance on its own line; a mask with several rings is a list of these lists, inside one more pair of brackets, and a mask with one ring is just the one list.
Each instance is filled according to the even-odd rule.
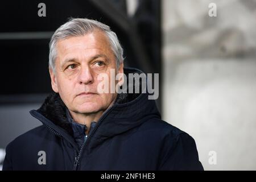
[[106,24],[98,22],[96,20],[87,18],[75,18],[70,19],[67,23],[61,25],[52,35],[49,42],[49,68],[55,72],[55,60],[57,57],[56,44],[59,40],[65,39],[71,36],[83,36],[94,30],[100,30],[105,33],[109,39],[111,49],[115,56],[117,68],[123,62],[123,49],[115,32],[110,30],[110,27]]

